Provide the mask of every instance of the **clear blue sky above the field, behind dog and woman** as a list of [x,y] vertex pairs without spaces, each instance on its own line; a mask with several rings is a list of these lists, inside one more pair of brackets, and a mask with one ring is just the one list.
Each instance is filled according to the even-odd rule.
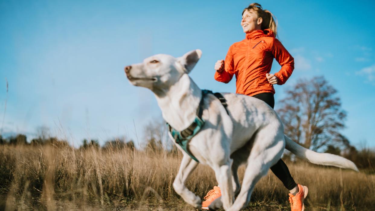
[[[158,53],[201,49],[190,76],[201,88],[235,92],[213,79],[214,63],[245,38],[249,1],[0,1],[0,123],[3,133],[40,126],[78,146],[116,136],[141,141],[161,118],[151,91],[133,87],[124,66]],[[300,78],[323,75],[348,112],[342,133],[375,147],[374,1],[258,1],[278,19],[296,68],[276,101]],[[275,61],[272,72],[280,66]],[[6,79],[9,92],[6,94]],[[277,103],[276,103],[277,107]]]

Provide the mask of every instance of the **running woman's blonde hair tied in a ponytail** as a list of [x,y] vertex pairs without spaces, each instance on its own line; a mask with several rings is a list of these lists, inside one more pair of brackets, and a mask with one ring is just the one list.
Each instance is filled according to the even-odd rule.
[[246,10],[248,10],[249,12],[250,10],[254,10],[255,13],[257,13],[258,18],[263,19],[262,24],[261,24],[261,29],[262,30],[270,29],[273,31],[273,33],[275,33],[275,36],[277,36],[278,22],[275,16],[272,15],[272,13],[269,10],[263,9],[262,6],[258,3],[251,3],[248,7],[243,9],[242,15]]

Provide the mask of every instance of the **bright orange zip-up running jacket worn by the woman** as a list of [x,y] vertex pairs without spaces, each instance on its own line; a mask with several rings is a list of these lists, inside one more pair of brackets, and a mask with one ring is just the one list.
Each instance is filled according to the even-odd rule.
[[256,30],[246,34],[246,39],[229,47],[225,57],[224,71],[215,73],[215,80],[228,83],[236,74],[236,93],[254,96],[264,92],[275,94],[273,85],[266,78],[270,73],[273,58],[281,65],[275,73],[278,84],[284,84],[294,69],[294,58],[273,31]]

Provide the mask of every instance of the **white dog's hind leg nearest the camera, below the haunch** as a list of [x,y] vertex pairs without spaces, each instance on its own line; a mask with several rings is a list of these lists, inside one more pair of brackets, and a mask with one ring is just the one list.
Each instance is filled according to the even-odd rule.
[[267,174],[268,169],[280,159],[284,148],[284,140],[274,143],[272,147],[267,147],[265,150],[260,151],[256,151],[254,148],[263,148],[260,146],[261,144],[254,145],[248,159],[248,165],[246,166],[241,191],[232,207],[229,208],[230,211],[241,210],[249,204],[255,184],[257,184],[260,178]]

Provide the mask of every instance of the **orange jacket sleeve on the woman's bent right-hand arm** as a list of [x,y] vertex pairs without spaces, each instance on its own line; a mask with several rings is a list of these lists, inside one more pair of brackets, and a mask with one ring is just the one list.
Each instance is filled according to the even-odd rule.
[[275,73],[278,77],[278,85],[285,84],[290,75],[292,75],[294,69],[294,58],[285,49],[278,39],[275,39],[271,46],[271,51],[276,61],[281,65],[281,70]]

